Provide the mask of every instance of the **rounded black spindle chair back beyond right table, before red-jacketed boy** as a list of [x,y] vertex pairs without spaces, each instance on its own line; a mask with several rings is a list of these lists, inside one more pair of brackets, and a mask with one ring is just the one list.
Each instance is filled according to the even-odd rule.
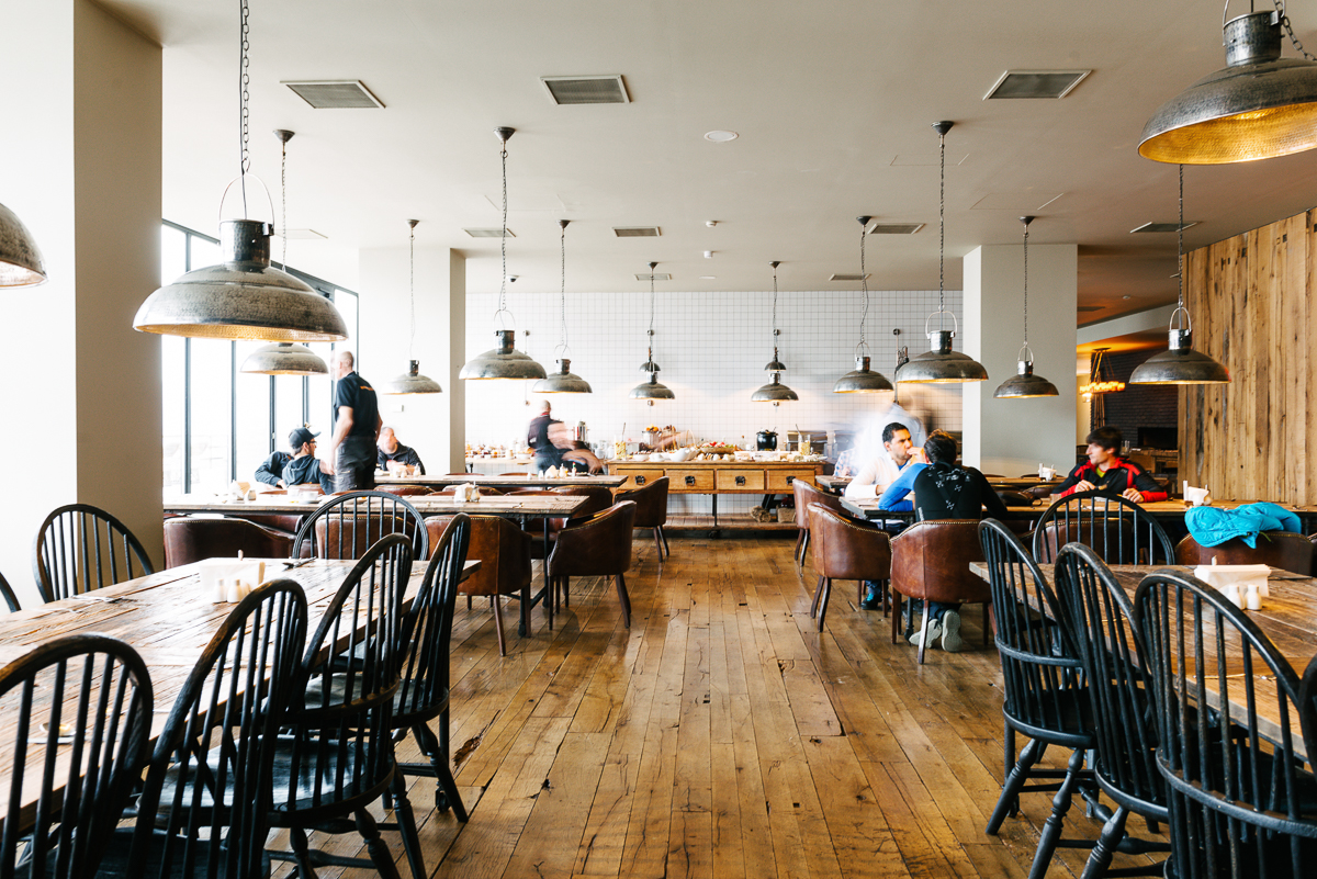
[[1175,565],[1175,546],[1147,511],[1123,497],[1081,491],[1047,508],[1034,528],[1034,558],[1050,565],[1084,543],[1108,565]]

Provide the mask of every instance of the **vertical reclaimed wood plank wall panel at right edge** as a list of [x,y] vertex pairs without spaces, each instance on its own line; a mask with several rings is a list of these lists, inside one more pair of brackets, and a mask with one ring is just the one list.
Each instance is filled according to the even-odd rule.
[[1317,343],[1310,293],[1314,212],[1191,251],[1193,343],[1230,370],[1223,387],[1180,388],[1180,475],[1217,497],[1317,503]]

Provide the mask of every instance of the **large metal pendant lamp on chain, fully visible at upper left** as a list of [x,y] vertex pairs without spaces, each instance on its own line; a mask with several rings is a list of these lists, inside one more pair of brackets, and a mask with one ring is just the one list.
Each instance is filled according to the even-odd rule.
[[[241,157],[234,182],[238,183],[242,196],[244,216],[248,216],[246,182],[250,167],[248,16],[248,4],[242,0],[238,36]],[[229,183],[229,188],[232,186],[233,183]],[[221,196],[220,214],[223,213]],[[273,204],[270,213],[274,213]],[[220,222],[220,250],[225,255],[224,262],[190,271],[173,284],[166,284],[148,296],[133,317],[133,329],[167,336],[255,338],[269,342],[338,342],[348,338],[348,326],[333,303],[292,275],[270,266],[273,232],[273,225],[261,220]]]

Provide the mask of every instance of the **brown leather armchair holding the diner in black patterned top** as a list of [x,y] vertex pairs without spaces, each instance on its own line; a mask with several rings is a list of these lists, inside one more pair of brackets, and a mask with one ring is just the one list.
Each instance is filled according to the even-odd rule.
[[[984,605],[984,643],[989,637],[992,591],[988,582],[969,572],[971,562],[982,562],[977,518],[946,518],[915,522],[892,541],[892,643],[897,642],[901,596],[928,601],[959,601]],[[919,645],[923,663],[926,645]]]

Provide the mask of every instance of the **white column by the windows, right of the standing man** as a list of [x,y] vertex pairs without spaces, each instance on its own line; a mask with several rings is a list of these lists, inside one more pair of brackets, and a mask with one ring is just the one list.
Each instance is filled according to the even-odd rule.
[[[407,225],[399,221],[399,237]],[[417,234],[424,224],[417,226]],[[416,247],[416,336],[410,339],[408,249],[361,251],[361,374],[377,389],[407,371],[411,357],[443,393],[379,396],[379,414],[399,442],[416,450],[429,474],[465,470],[466,393],[457,379],[466,362],[466,258],[448,247]]]

